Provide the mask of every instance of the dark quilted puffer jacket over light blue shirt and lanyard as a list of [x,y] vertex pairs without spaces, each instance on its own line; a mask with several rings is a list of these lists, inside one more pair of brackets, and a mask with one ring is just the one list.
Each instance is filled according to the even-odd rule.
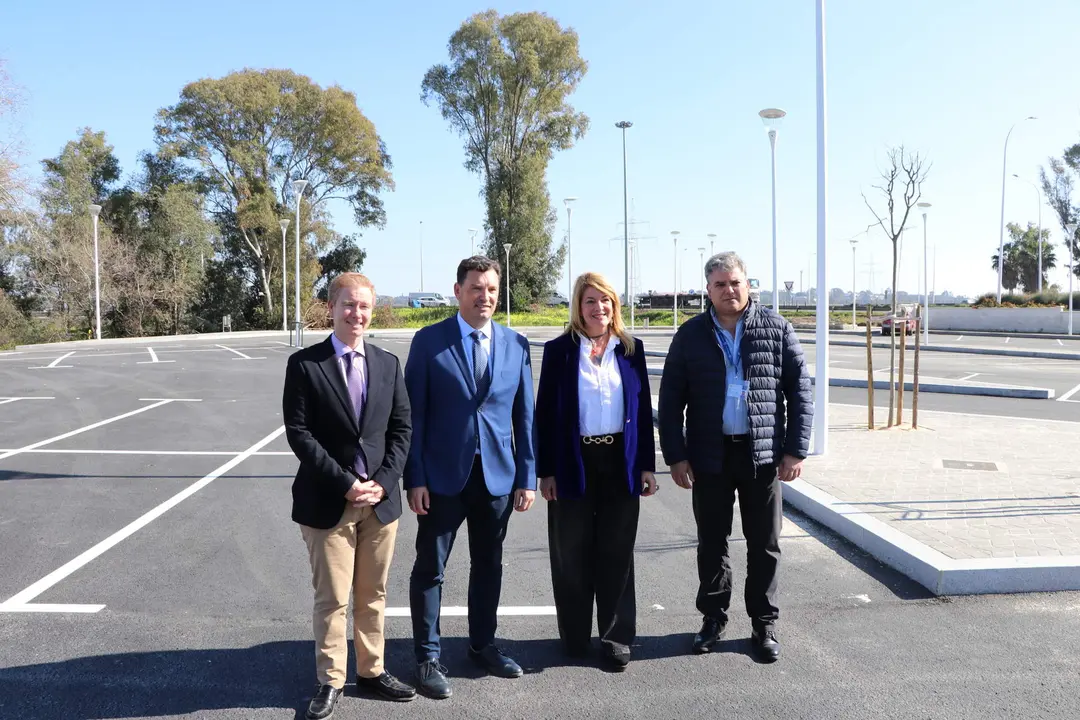
[[[772,309],[751,301],[739,352],[750,382],[755,464],[779,463],[785,453],[806,458],[813,426],[813,391],[795,328]],[[720,472],[726,395],[724,351],[712,317],[704,312],[679,328],[664,362],[657,415],[660,449],[669,465],[689,460],[694,472]]]

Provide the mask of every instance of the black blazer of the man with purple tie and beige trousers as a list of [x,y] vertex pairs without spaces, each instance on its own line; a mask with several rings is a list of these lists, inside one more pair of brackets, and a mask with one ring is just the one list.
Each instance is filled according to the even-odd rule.
[[364,341],[367,403],[357,427],[349,390],[330,338],[293,353],[285,370],[285,437],[300,461],[293,481],[293,520],[323,530],[345,513],[356,477],[352,463],[364,448],[368,478],[387,491],[375,506],[383,525],[402,514],[401,475],[413,438],[405,378],[397,357]]

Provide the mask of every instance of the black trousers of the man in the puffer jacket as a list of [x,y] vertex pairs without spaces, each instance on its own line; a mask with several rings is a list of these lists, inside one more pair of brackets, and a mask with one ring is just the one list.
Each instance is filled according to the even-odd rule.
[[693,517],[698,522],[698,610],[721,623],[731,604],[728,541],[735,492],[746,539],[746,614],[755,628],[771,626],[777,608],[783,502],[775,465],[754,466],[751,443],[724,438],[724,468],[694,475]]

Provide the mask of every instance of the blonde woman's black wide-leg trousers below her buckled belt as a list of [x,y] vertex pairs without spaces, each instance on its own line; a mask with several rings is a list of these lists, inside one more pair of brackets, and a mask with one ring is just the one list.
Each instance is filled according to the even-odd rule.
[[592,638],[593,602],[600,642],[627,649],[637,633],[634,543],[640,500],[626,487],[621,435],[581,446],[585,494],[548,503],[548,541],[558,635],[570,652]]

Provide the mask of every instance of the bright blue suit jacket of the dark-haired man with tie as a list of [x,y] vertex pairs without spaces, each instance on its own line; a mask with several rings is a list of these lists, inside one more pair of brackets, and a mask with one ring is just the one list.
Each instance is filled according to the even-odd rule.
[[492,495],[536,490],[528,340],[492,322],[491,364],[491,382],[480,395],[457,315],[413,338],[405,364],[413,408],[413,445],[403,476],[406,490],[461,492],[472,471],[477,437],[484,480]]

